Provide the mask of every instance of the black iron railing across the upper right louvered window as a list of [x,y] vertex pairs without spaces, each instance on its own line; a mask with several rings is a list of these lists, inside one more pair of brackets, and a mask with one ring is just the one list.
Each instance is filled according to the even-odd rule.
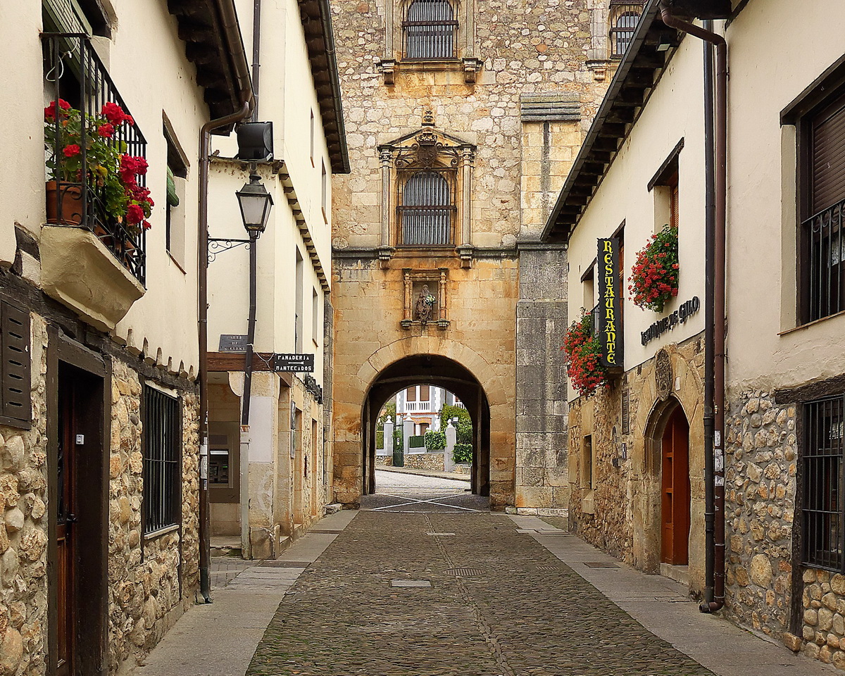
[[815,321],[845,310],[845,241],[842,217],[845,200],[810,217],[804,235],[804,321]]

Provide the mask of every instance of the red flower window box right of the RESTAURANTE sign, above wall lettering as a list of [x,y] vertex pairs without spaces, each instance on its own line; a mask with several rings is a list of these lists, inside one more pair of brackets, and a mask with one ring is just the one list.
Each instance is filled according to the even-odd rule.
[[678,273],[678,228],[663,226],[636,254],[628,286],[634,304],[662,312],[666,303],[678,295]]

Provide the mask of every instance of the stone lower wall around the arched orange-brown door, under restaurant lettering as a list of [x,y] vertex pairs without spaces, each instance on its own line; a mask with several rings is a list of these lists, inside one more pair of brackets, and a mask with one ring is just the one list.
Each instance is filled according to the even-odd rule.
[[[657,573],[661,559],[661,448],[659,439],[676,402],[690,424],[690,586],[704,586],[703,377],[701,335],[662,347],[657,357],[624,373],[609,388],[571,402],[570,528],[587,542],[639,570]],[[658,371],[664,386],[658,385]],[[668,386],[666,386],[668,385]],[[629,393],[628,433],[622,425]],[[614,436],[615,431],[615,436]],[[584,437],[591,435],[592,487],[583,479]],[[623,452],[624,444],[624,452]]]

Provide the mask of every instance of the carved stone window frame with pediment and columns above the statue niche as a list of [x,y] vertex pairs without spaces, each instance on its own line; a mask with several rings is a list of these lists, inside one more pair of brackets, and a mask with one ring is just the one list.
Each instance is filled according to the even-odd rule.
[[[433,128],[428,114],[423,128],[392,143],[379,145],[382,177],[380,259],[390,259],[399,247],[409,254],[454,248],[461,258],[472,256],[472,171],[475,154],[474,145]],[[432,170],[444,172],[453,191],[453,242],[442,246],[401,246],[398,210],[401,188],[414,172]]]

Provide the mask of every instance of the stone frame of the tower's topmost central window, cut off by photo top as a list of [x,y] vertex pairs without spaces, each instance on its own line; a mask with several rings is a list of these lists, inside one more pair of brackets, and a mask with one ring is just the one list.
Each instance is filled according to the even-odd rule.
[[397,71],[462,71],[466,84],[475,84],[476,74],[482,68],[477,58],[476,42],[476,0],[450,0],[455,10],[458,25],[455,28],[455,56],[439,59],[407,59],[405,57],[405,36],[402,22],[413,0],[387,0],[384,26],[384,56],[379,60],[379,71],[384,75],[384,84],[395,83]]

